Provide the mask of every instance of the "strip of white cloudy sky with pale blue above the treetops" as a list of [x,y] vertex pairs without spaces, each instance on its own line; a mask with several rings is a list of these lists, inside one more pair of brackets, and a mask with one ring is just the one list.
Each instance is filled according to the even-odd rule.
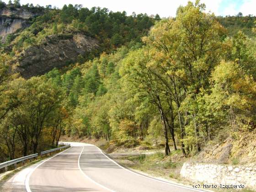
[[[8,0],[3,0],[6,3]],[[195,0],[192,0],[195,1]],[[201,0],[206,4],[206,11],[214,12],[215,15],[256,15],[256,0]],[[84,7],[93,6],[107,7],[112,11],[126,11],[128,15],[132,12],[147,13],[161,17],[175,16],[179,5],[186,5],[187,0],[21,0],[21,4],[33,3],[34,5],[52,5],[59,8],[64,4],[82,4]]]

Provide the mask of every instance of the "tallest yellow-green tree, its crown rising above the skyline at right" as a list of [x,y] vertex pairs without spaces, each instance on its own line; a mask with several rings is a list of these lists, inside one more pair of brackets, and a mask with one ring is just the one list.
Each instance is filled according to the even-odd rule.
[[[192,95],[196,100],[200,89],[208,87],[210,73],[221,58],[221,38],[225,34],[224,28],[216,21],[214,15],[205,14],[204,9],[205,5],[200,4],[198,0],[195,4],[188,2],[187,6],[179,7],[176,20],[160,21],[150,31],[149,37],[144,38],[144,42],[155,49],[152,51],[155,55],[153,58],[156,59],[155,64],[162,74],[167,75],[170,82],[159,78],[166,86],[170,100],[176,103],[181,139],[186,136],[184,125],[192,123],[197,151],[201,150],[197,112],[185,110],[182,114],[180,107],[186,96]],[[191,121],[185,122],[188,113]],[[185,154],[183,147],[182,151]]]

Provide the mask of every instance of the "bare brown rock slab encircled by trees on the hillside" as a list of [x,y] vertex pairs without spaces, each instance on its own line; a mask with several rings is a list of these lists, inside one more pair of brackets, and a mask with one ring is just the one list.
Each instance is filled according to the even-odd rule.
[[24,50],[19,58],[18,72],[24,78],[43,75],[53,68],[67,66],[77,59],[98,48],[98,42],[83,34],[70,36],[48,36],[40,46]]

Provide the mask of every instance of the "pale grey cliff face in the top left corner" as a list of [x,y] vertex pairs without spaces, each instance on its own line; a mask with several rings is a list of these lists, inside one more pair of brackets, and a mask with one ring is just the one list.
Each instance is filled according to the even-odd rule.
[[0,10],[0,39],[5,42],[6,35],[16,32],[18,29],[28,27],[29,19],[42,13],[32,13],[22,8]]

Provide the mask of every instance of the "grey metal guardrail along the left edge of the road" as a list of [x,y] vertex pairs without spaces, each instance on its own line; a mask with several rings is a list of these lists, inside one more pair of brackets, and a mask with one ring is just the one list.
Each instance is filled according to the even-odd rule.
[[[60,144],[63,144],[63,143],[60,143]],[[55,149],[50,149],[50,150],[47,150],[47,151],[43,151],[40,153],[40,155],[45,155],[45,154],[48,154],[48,153],[51,153],[53,151],[57,151],[57,150],[60,150],[60,149],[64,149],[64,148],[67,148],[69,147],[70,144],[68,145],[65,145],[63,147],[59,147],[59,148],[55,148]],[[9,161],[6,161],[6,162],[3,162],[3,163],[0,163],[0,169],[2,168],[5,168],[5,171],[7,171],[7,167],[10,166],[10,165],[14,165],[16,166],[17,163],[19,162],[24,162],[25,160],[29,160],[29,159],[32,159],[32,158],[35,158],[38,156],[38,153],[36,154],[32,154],[32,155],[27,155],[25,157],[21,157],[21,158],[18,158],[18,159],[15,159],[15,160],[9,160]]]

